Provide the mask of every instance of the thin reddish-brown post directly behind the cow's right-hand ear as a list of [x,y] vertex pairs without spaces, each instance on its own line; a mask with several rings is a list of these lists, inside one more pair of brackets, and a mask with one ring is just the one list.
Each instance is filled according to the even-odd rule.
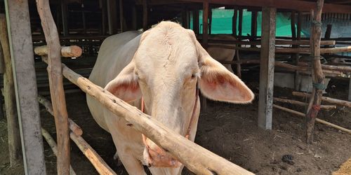
[[[202,46],[207,50],[208,46],[208,2],[202,3]],[[201,95],[201,110],[207,111],[207,99]]]

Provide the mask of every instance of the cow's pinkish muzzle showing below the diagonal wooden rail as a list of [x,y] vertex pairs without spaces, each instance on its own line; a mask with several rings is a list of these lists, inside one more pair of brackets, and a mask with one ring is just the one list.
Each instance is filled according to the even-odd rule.
[[150,139],[146,139],[143,157],[147,167],[178,168],[182,165],[171,154],[154,144]]

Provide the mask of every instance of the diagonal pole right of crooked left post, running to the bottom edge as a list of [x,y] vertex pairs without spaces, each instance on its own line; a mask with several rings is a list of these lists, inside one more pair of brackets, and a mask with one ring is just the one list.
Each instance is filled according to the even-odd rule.
[[[96,151],[91,148],[91,146],[86,143],[86,141],[83,139],[83,137],[77,136],[73,132],[69,134],[69,137],[71,137],[72,141],[77,144],[78,148],[81,150],[81,152],[86,155],[86,158],[91,162],[91,164],[95,167],[96,171],[98,171],[99,174],[116,174],[108,165],[107,163],[102,160],[100,155],[96,153]],[[117,174],[116,174],[117,175]]]

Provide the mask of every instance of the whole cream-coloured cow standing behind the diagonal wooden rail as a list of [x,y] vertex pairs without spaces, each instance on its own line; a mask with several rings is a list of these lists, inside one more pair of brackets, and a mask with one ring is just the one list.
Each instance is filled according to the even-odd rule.
[[[248,104],[253,92],[201,47],[194,32],[160,22],[140,34],[127,31],[103,41],[89,79],[114,96],[194,141],[200,103],[208,99]],[[180,174],[183,165],[162,148],[87,96],[95,121],[110,132],[128,174]]]

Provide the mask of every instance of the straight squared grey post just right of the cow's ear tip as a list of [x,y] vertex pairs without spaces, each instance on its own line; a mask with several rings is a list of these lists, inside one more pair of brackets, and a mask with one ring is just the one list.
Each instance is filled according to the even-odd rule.
[[276,8],[262,8],[258,127],[272,130]]

